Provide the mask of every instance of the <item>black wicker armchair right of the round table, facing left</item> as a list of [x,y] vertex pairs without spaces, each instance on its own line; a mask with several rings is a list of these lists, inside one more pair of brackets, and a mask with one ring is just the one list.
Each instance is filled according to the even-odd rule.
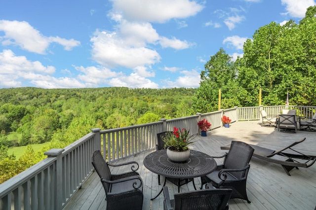
[[231,188],[233,193],[231,199],[240,198],[250,203],[247,192],[246,182],[250,169],[249,161],[252,157],[254,149],[247,143],[242,141],[232,141],[229,152],[221,157],[224,162],[218,165],[216,170],[211,174],[201,177],[201,187],[210,182],[216,188]]

